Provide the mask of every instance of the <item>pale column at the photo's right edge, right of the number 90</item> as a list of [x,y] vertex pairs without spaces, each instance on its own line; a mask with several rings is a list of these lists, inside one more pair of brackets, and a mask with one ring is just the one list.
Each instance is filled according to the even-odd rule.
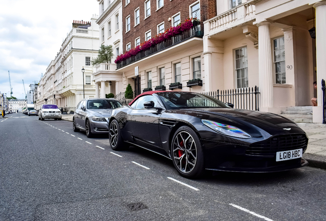
[[314,4],[316,9],[316,64],[317,64],[317,104],[313,107],[313,122],[322,122],[321,79],[326,80],[326,1]]

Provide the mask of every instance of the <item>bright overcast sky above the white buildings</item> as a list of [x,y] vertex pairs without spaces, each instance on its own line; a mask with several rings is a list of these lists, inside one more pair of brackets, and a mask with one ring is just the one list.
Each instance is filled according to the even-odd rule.
[[98,15],[96,0],[1,0],[0,92],[25,99],[25,89],[38,82],[54,59],[73,20]]

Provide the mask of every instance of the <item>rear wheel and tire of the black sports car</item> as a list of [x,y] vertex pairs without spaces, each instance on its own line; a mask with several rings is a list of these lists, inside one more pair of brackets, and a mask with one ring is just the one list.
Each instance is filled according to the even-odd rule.
[[125,150],[129,147],[127,143],[124,142],[119,123],[114,119],[109,125],[109,141],[111,148],[113,150]]

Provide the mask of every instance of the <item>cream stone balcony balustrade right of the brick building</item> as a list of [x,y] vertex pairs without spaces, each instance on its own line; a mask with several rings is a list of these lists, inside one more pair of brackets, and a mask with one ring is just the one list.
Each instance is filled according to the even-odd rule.
[[242,4],[205,21],[205,31],[212,36],[256,20],[255,5]]

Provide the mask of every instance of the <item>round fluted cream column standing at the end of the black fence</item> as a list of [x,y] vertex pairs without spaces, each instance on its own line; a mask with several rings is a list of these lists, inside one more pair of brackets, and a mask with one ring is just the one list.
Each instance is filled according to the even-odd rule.
[[273,107],[273,60],[269,29],[270,25],[271,23],[267,21],[257,24],[261,111],[268,111],[269,107]]

